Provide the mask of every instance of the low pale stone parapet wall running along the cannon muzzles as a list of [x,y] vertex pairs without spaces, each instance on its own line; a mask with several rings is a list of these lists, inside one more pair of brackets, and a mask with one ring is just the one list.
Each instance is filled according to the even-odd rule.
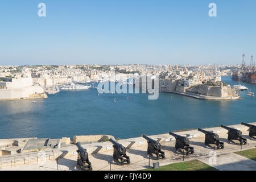
[[[250,123],[251,125],[256,125],[256,122]],[[230,125],[229,127],[233,127],[235,129],[241,130],[243,135],[247,135],[248,134],[248,127],[243,126],[241,124],[238,125]],[[227,130],[223,129],[222,127],[211,127],[211,128],[206,128],[204,130],[207,131],[212,131],[213,133],[217,133],[218,135],[226,135],[226,133],[228,132]],[[198,130],[188,130],[188,131],[181,131],[181,132],[174,132],[178,135],[184,136],[184,137],[188,137],[189,139],[193,140],[194,138],[196,140],[200,139],[201,143],[204,143],[204,137],[205,134],[201,133]],[[160,142],[163,146],[164,145],[168,145],[170,146],[170,144],[172,146],[174,146],[175,143],[175,138],[166,133],[166,134],[159,134],[159,135],[151,135],[148,136],[154,140],[157,140],[158,142]],[[126,147],[127,149],[135,149],[138,147],[147,147],[147,140],[144,139],[143,137],[137,137],[137,138],[128,138],[128,139],[120,139],[117,140],[118,143],[121,143],[124,147]],[[104,152],[109,152],[109,151],[113,151],[113,144],[111,142],[96,142],[96,143],[87,143],[87,144],[81,144],[82,147],[86,148],[86,151],[88,152],[88,154],[102,154]],[[236,146],[236,145],[234,145]],[[237,147],[237,146],[236,146]],[[238,148],[238,147],[237,147]],[[240,148],[240,147],[239,147]],[[63,156],[65,156],[65,158],[71,157],[71,156],[77,156],[77,146],[75,144],[71,144],[67,147],[61,147],[61,148],[57,148],[57,149],[51,149],[46,151],[47,158],[49,160],[53,160],[56,158],[61,158]],[[29,154],[29,156],[28,156]],[[34,156],[33,156],[34,155]],[[15,163],[15,165],[18,164],[27,164],[28,163],[28,158],[31,158],[29,160],[29,163],[32,162],[37,162],[37,157],[38,157],[38,152],[31,152],[31,153],[26,153],[27,159],[24,162],[24,154],[14,154],[14,155],[7,155],[7,159],[6,162],[3,166],[10,166],[11,165],[11,160],[14,160],[14,156],[15,159],[19,159],[22,158],[23,160],[20,160],[20,163],[17,162]],[[2,158],[2,161],[5,158]]]

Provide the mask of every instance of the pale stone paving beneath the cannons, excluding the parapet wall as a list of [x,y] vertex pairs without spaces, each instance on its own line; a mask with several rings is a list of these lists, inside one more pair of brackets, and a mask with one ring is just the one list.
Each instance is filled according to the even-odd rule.
[[[190,145],[195,148],[195,154],[191,156],[185,156],[184,161],[199,159],[201,162],[207,163],[220,170],[255,170],[255,162],[253,160],[244,158],[237,154],[233,154],[235,151],[240,151],[241,146],[228,141],[227,134],[219,134],[220,140],[224,142],[225,148],[222,150],[213,150],[209,146],[205,146],[204,137],[191,138]],[[242,146],[242,150],[249,148],[255,148],[256,140],[248,137],[248,131],[243,131],[243,137],[247,138],[247,144]],[[150,159],[150,165],[152,163],[159,162],[160,166],[166,164],[183,162],[183,155],[177,154],[175,151],[175,142],[162,143],[162,150],[166,154],[166,159],[154,160]],[[126,150],[127,155],[130,156],[131,164],[120,166],[112,162],[111,170],[118,171],[130,171],[139,170],[148,167],[148,155],[147,146],[143,145],[141,147],[128,148]],[[216,152],[216,158],[214,158],[214,153]],[[92,168],[94,171],[108,171],[110,170],[110,160],[112,159],[113,151],[105,151],[97,154],[90,154],[89,160],[92,162]],[[59,159],[59,170],[80,170],[76,166],[77,155],[65,156]],[[216,160],[215,160],[216,159]],[[215,161],[215,162],[214,162]],[[42,163],[31,163],[24,165],[16,165],[11,167],[3,167],[0,170],[44,170],[52,171],[57,170],[56,160],[46,160],[45,164]]]

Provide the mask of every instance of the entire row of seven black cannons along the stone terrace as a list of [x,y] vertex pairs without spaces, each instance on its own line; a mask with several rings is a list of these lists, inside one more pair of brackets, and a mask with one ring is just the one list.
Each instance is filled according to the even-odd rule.
[[[254,137],[256,136],[256,126],[255,125],[250,125],[247,123],[241,123],[242,125],[245,125],[249,127],[249,137]],[[247,140],[246,138],[242,138],[242,132],[237,129],[233,129],[228,126],[221,125],[222,128],[228,130],[228,140],[238,140],[240,142],[240,145],[246,144]],[[206,131],[203,129],[198,129],[198,131],[201,131],[202,133],[205,134],[205,144],[210,146],[210,144],[213,144],[214,147],[216,146],[216,149],[223,149],[224,148],[224,142],[220,142],[218,134],[212,133],[210,131]],[[174,133],[169,133],[173,137],[175,137],[175,150],[181,151],[184,150],[185,155],[190,155],[194,154],[194,148],[189,146],[189,139],[187,137],[183,137],[181,135],[177,135]],[[144,139],[147,140],[147,154],[154,156],[156,160],[165,159],[165,154],[164,151],[161,150],[161,144],[150,138],[147,137],[146,135],[142,135]],[[113,159],[121,165],[123,164],[130,164],[130,157],[126,155],[126,148],[121,144],[113,139],[109,140],[110,142],[113,143]],[[90,163],[88,159],[88,152],[86,152],[86,149],[81,146],[81,144],[78,142],[76,143],[76,146],[78,147],[77,153],[78,153],[78,158],[77,158],[77,164],[81,167],[82,170],[88,169],[89,171],[92,170],[92,164]],[[154,155],[153,155],[154,154]]]

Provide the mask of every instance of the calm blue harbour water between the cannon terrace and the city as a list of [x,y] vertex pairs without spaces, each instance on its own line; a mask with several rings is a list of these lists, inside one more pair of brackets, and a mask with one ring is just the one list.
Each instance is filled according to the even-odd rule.
[[[239,84],[222,77],[230,85]],[[256,93],[256,85],[241,83]],[[197,129],[256,121],[256,98],[204,101],[173,93],[100,94],[96,88],[61,90],[43,100],[0,101],[0,138],[61,138],[109,134],[133,138],[180,129]],[[36,101],[36,103],[32,103]],[[115,101],[115,102],[114,102]]]

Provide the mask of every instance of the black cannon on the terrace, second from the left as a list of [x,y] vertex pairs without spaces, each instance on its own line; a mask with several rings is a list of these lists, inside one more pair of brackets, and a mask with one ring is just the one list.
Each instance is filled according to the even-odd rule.
[[121,165],[130,164],[130,157],[126,155],[126,148],[122,146],[122,144],[115,142],[112,138],[109,139],[109,142],[113,143],[114,153],[113,159],[116,161],[121,160]]

